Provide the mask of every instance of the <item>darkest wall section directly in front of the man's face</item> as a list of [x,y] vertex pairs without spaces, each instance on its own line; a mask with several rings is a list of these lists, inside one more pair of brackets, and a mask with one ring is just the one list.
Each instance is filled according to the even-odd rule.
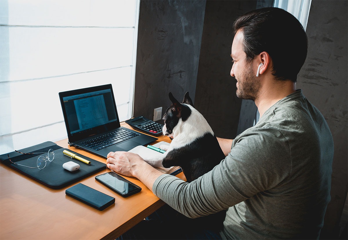
[[236,96],[232,67],[232,25],[243,13],[256,8],[257,1],[207,1],[195,107],[207,119],[214,133],[235,138],[242,100]]

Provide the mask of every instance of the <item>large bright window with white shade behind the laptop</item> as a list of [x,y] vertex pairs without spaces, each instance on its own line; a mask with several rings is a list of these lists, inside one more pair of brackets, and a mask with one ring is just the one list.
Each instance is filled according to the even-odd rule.
[[67,138],[58,92],[111,83],[132,117],[139,0],[0,0],[0,153]]

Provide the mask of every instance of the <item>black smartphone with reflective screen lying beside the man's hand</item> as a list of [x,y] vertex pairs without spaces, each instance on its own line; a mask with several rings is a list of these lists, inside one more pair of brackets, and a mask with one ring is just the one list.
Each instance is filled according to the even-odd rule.
[[97,181],[100,181],[105,186],[111,188],[113,191],[120,194],[122,197],[128,197],[134,193],[141,191],[141,187],[131,183],[127,179],[121,177],[117,173],[107,172],[95,177]]

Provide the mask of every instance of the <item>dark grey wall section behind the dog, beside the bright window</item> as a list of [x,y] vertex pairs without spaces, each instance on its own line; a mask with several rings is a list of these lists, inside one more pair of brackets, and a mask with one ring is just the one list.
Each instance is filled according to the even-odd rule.
[[205,1],[140,2],[134,116],[163,115],[169,92],[195,99],[204,11]]

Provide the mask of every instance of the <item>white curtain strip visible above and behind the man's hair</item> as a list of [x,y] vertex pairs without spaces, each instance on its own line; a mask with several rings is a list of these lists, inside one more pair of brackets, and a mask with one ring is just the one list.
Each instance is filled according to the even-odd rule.
[[282,8],[294,15],[306,31],[311,1],[312,0],[275,0],[273,6]]

